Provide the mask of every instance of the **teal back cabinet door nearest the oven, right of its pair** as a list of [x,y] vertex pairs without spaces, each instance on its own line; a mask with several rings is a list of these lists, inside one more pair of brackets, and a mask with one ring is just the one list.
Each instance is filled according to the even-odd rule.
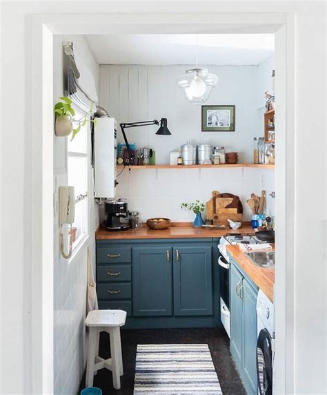
[[211,247],[174,247],[175,316],[212,314]]

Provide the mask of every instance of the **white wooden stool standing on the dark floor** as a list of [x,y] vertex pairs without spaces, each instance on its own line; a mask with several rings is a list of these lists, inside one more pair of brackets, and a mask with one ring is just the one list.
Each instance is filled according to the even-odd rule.
[[[86,387],[93,386],[94,375],[99,369],[106,367],[112,372],[115,389],[120,389],[120,376],[123,376],[123,359],[121,357],[120,327],[125,325],[126,311],[123,310],[93,310],[85,320],[90,328],[88,336],[88,366],[86,368]],[[100,332],[110,335],[111,358],[99,356]]]

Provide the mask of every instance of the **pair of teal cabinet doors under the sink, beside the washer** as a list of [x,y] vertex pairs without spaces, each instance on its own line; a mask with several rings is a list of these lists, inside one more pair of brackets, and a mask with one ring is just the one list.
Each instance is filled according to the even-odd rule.
[[230,352],[248,394],[257,394],[257,289],[230,265]]

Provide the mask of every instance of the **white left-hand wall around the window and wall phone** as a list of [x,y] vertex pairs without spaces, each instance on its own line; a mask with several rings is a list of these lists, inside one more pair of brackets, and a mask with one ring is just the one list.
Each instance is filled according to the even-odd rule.
[[[73,41],[74,50],[81,57],[95,77],[99,92],[99,66],[86,40],[82,36],[54,36],[54,102],[63,95],[63,41]],[[75,137],[79,138],[79,135]],[[67,139],[54,135],[54,191],[67,184]],[[89,175],[91,176],[91,168]],[[92,178],[90,177],[90,181]],[[87,247],[92,249],[95,262],[95,229],[99,224],[98,210],[92,200],[92,183],[88,188],[90,196],[90,239],[77,256],[66,260],[59,249],[59,220],[54,216],[54,394],[76,394],[86,364],[86,280]],[[95,263],[94,263],[95,264]]]

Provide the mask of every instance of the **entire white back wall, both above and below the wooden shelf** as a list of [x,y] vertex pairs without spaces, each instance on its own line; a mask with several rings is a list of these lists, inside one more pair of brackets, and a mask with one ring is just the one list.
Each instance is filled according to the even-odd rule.
[[[207,104],[235,105],[235,132],[201,132],[201,106],[190,104],[176,84],[179,75],[191,66],[101,66],[100,104],[118,122],[168,118],[171,136],[157,136],[156,126],[126,130],[129,142],[138,148],[149,146],[156,152],[156,163],[169,163],[169,152],[186,140],[201,143],[206,139],[224,145],[226,152],[238,151],[239,162],[252,162],[253,137],[264,135],[259,128],[258,91],[270,88],[266,74],[270,65],[208,66],[219,77]],[[260,78],[258,76],[260,69]],[[263,77],[261,77],[263,76]],[[264,101],[264,97],[263,97]],[[263,117],[263,115],[262,115]],[[123,142],[121,133],[118,135]],[[181,211],[181,202],[200,199],[206,202],[211,191],[235,193],[244,203],[244,220],[250,220],[246,200],[251,193],[267,191],[267,213],[275,213],[274,171],[260,169],[127,169],[119,176],[117,198],[127,198],[129,209],[140,211],[141,218],[164,216],[175,221],[192,220],[192,213]]]

